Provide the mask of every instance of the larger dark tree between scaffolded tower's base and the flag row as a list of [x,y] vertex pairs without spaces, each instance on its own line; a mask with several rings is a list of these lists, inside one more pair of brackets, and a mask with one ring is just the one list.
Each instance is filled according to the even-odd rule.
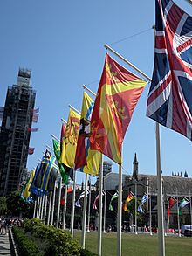
[[7,197],[7,209],[10,214],[14,216],[21,216],[23,218],[32,217],[33,204],[29,204],[21,197],[21,191],[12,192]]

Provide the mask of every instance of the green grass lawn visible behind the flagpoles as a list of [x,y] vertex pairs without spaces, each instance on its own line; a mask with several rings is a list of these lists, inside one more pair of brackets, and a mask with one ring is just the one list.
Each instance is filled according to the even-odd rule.
[[[74,239],[80,243],[81,232],[74,233]],[[97,232],[86,233],[86,249],[97,253]],[[166,237],[166,256],[192,255],[192,238]],[[102,256],[116,256],[116,233],[105,233],[102,236]],[[158,255],[157,235],[122,233],[122,256],[155,256]]]

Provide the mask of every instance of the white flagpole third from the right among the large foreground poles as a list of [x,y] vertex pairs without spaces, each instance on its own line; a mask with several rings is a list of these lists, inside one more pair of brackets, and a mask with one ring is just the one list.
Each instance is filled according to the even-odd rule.
[[103,192],[103,155],[100,160],[99,171],[99,224],[98,224],[98,255],[102,253],[102,192]]

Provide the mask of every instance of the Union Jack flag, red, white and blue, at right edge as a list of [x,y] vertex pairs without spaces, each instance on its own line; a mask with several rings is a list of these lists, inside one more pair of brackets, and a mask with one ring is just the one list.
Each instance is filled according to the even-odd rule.
[[192,140],[192,17],[156,0],[154,73],[147,116]]

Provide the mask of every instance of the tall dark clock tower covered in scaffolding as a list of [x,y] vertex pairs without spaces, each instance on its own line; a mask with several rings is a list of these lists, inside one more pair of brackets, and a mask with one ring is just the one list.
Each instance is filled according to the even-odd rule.
[[0,196],[17,190],[26,170],[36,93],[31,71],[19,69],[17,84],[8,87],[0,132]]

